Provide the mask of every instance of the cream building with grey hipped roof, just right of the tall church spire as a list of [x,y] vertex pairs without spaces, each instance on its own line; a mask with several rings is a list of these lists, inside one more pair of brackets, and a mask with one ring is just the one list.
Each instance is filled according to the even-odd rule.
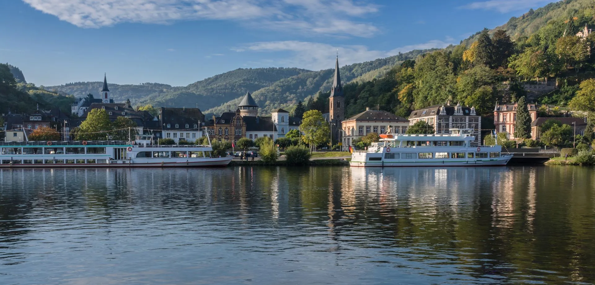
[[343,149],[353,145],[353,140],[369,133],[383,134],[389,131],[393,134],[405,133],[408,126],[409,121],[406,118],[387,111],[366,108],[366,111],[343,120]]

